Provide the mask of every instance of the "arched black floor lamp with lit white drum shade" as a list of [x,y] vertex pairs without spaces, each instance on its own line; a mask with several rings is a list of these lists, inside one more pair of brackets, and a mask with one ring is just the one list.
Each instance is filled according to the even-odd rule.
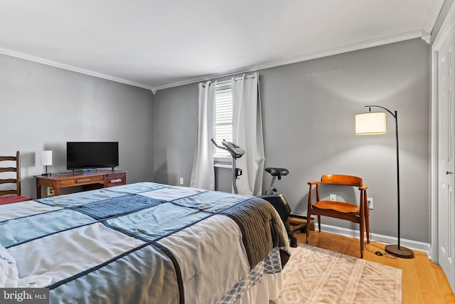
[[[371,108],[381,108],[389,112],[395,118],[395,134],[397,146],[397,207],[398,207],[398,243],[397,245],[385,246],[385,252],[399,258],[413,258],[414,252],[406,247],[400,246],[400,157],[398,157],[398,117],[395,114],[379,105],[365,105],[369,112],[355,115],[355,135],[385,134],[385,112],[371,112]],[[369,231],[367,231],[369,233]]]

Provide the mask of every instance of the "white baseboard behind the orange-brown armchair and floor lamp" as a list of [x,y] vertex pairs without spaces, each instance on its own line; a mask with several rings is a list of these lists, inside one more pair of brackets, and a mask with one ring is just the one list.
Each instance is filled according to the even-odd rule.
[[[358,238],[360,236],[360,232],[358,230],[353,229],[346,229],[337,226],[330,226],[321,224],[321,231],[328,232],[330,234],[339,234],[341,236],[349,236],[352,238]],[[375,234],[374,232],[371,234],[370,241],[375,241],[378,243],[387,243],[387,244],[396,244],[397,238],[392,236],[383,236],[381,234]],[[428,258],[431,260],[432,254],[432,246],[429,243],[423,243],[418,241],[412,241],[407,239],[400,239],[400,245],[410,248],[412,250],[423,251],[427,253]]]

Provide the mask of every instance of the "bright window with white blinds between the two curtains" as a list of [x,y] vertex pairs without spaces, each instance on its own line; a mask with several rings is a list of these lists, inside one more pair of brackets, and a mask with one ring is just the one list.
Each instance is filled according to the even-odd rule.
[[[228,83],[218,83],[215,88],[215,107],[213,109],[214,140],[218,145],[226,140],[232,142],[232,87]],[[226,150],[215,147],[215,162],[231,162]]]

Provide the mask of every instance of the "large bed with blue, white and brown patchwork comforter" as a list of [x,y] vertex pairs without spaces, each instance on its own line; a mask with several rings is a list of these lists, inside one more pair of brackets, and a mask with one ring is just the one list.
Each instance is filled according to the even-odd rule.
[[1,205],[0,243],[50,303],[269,303],[289,254],[267,201],[151,182]]

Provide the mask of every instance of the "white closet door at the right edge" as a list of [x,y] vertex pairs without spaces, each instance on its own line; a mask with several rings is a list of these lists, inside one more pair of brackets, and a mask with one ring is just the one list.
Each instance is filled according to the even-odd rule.
[[454,36],[452,30],[438,55],[438,254],[455,292]]

